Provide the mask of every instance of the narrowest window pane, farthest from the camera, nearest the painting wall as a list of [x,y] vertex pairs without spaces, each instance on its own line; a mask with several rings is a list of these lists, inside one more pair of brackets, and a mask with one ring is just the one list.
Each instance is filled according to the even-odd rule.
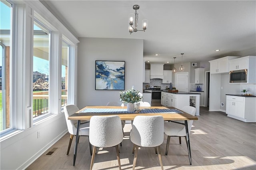
[[68,99],[68,58],[69,45],[62,40],[62,57],[61,57],[61,106],[67,105]]

